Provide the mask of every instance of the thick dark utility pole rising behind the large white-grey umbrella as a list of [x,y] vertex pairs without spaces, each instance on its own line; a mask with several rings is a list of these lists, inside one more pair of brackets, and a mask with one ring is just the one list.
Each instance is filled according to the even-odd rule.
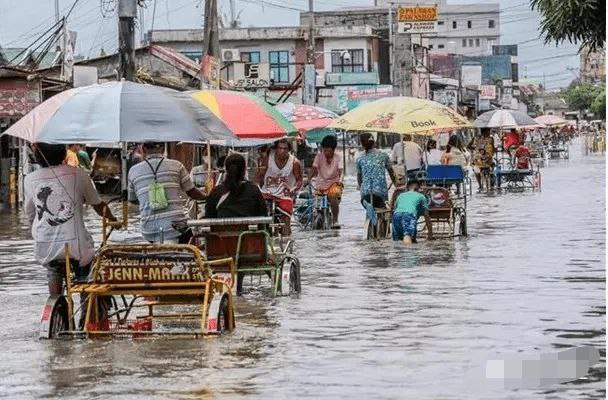
[[118,0],[118,73],[120,79],[135,79],[135,18],[137,0]]

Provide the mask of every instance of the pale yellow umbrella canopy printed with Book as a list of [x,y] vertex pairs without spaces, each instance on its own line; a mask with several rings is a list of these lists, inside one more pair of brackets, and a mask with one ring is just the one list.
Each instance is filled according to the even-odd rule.
[[415,97],[384,97],[360,105],[328,127],[348,131],[429,135],[436,130],[470,128],[471,124],[456,111],[435,101]]

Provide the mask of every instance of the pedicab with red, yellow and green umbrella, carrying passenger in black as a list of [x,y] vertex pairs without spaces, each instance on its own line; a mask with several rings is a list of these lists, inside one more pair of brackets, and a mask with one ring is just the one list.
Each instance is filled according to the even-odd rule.
[[[296,127],[278,110],[254,94],[201,90],[186,96],[203,108],[213,110],[239,138],[238,141],[225,141],[226,146],[267,145],[297,133]],[[243,118],[244,114],[248,118]],[[294,243],[285,240],[282,234],[286,221],[293,214],[293,200],[283,196],[282,192],[282,188],[278,188],[274,193],[263,193],[270,217],[196,218],[187,221],[196,245],[204,250],[210,262],[234,259],[236,287],[229,270],[216,267],[214,271],[221,274],[237,294],[241,294],[246,275],[269,276],[273,296],[300,292],[300,264],[293,254]]]

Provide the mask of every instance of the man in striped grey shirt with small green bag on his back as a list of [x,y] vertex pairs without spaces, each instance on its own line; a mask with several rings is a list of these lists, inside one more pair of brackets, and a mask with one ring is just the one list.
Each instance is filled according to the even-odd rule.
[[[173,228],[174,223],[186,220],[185,195],[194,200],[205,200],[205,195],[194,187],[184,165],[164,156],[163,143],[145,143],[145,159],[129,170],[129,199],[139,201],[141,234],[149,242],[187,243],[189,235]],[[164,187],[167,207],[153,210],[148,189],[156,182]]]

